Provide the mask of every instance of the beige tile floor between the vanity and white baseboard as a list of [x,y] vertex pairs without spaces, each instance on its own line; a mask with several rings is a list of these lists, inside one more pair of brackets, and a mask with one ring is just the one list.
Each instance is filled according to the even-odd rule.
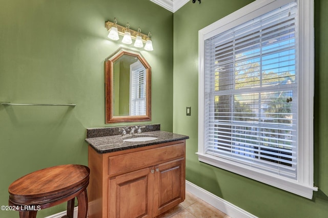
[[215,207],[186,191],[186,200],[157,218],[230,218]]

